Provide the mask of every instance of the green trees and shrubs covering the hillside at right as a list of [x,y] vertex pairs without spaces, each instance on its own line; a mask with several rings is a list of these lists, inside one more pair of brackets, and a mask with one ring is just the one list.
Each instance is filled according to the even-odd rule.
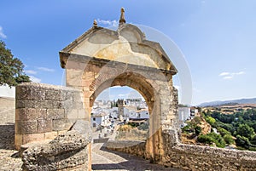
[[197,126],[192,125],[191,122],[183,128],[183,133],[188,133],[188,130],[192,129],[192,132],[196,134],[196,141],[202,144],[218,147],[235,145],[240,150],[256,151],[255,109],[241,109],[230,115],[219,110],[205,110],[201,112],[201,117],[211,124],[211,133],[198,134],[197,132],[196,134]]

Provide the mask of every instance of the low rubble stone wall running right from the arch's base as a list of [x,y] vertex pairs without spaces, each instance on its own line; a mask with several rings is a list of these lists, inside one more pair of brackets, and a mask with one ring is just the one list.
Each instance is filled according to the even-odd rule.
[[[160,164],[186,170],[256,170],[256,152],[177,142],[173,130],[163,132],[165,154]],[[175,140],[176,139],[176,140]]]

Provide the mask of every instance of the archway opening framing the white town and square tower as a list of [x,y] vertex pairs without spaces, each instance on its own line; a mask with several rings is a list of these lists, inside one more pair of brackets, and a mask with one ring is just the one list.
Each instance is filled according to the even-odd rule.
[[149,135],[147,102],[134,88],[113,86],[99,94],[90,116],[93,138],[146,141]]

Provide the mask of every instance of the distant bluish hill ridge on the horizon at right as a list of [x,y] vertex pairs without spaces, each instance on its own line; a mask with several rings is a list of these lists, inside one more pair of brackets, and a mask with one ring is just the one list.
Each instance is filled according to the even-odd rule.
[[252,99],[240,99],[240,100],[218,100],[218,101],[211,101],[211,102],[206,102],[202,103],[201,107],[206,107],[206,106],[216,106],[216,105],[236,105],[236,104],[256,104],[256,98]]

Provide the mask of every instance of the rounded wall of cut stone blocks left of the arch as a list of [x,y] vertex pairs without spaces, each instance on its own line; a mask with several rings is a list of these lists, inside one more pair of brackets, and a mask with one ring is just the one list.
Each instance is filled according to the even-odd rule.
[[52,140],[78,119],[88,120],[80,90],[43,83],[16,86],[15,148]]

